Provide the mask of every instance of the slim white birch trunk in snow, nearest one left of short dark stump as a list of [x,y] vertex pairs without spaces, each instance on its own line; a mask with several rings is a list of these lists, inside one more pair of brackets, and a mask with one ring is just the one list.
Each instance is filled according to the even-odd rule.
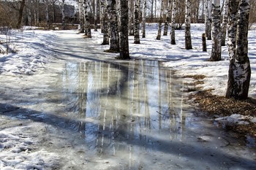
[[186,0],[186,15],[185,15],[185,47],[186,50],[192,49],[191,32],[190,32],[190,15],[191,0]]

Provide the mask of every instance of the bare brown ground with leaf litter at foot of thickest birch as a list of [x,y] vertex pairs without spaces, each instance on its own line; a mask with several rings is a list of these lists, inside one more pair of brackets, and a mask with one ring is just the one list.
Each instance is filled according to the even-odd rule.
[[[192,78],[193,88],[189,88],[189,101],[197,106],[201,112],[206,112],[208,116],[226,117],[233,114],[256,117],[256,99],[248,98],[246,101],[237,101],[233,98],[225,98],[225,96],[216,96],[211,93],[211,90],[201,90],[200,84],[203,84],[204,75],[187,75],[186,78]],[[249,121],[248,121],[249,122]],[[222,125],[228,131],[235,131],[241,136],[251,135],[256,137],[256,123],[247,125],[225,124]]]

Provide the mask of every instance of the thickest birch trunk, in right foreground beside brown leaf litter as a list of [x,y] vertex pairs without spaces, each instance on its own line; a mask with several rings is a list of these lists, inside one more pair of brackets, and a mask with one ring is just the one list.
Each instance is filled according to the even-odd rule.
[[228,47],[230,66],[227,98],[248,98],[251,68],[248,58],[249,0],[229,1]]

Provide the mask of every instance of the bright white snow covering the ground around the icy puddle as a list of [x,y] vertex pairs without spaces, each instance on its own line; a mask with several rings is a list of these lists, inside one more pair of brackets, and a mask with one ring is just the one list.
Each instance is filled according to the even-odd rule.
[[[192,24],[192,50],[184,49],[184,30],[176,31],[176,45],[170,45],[170,36],[162,36],[156,40],[157,24],[148,24],[146,38],[140,39],[140,45],[133,44],[133,37],[129,36],[129,52],[132,58],[144,58],[150,60],[165,61],[164,66],[176,70],[176,75],[182,77],[186,74],[204,74],[203,90],[213,89],[216,95],[225,95],[228,72],[228,51],[222,47],[222,61],[207,61],[211,54],[211,41],[207,41],[208,52],[202,52],[201,35],[204,32],[203,24]],[[23,31],[12,30],[10,34],[10,48],[15,53],[0,55],[0,76],[8,76],[8,81],[16,81],[18,76],[33,76],[42,73],[48,67],[48,63],[58,61],[54,49],[58,47],[56,39],[71,39],[80,37],[78,31],[42,31],[34,28],[26,28]],[[99,44],[97,51],[107,50],[108,46],[100,45],[102,34],[100,31],[92,31],[91,42]],[[4,42],[7,36],[0,35],[0,42]],[[249,96],[256,97],[256,36],[255,31],[249,31],[249,58],[252,68]],[[82,40],[81,40],[82,41]],[[2,49],[4,43],[0,44]],[[68,45],[67,45],[68,47]],[[90,46],[88,47],[90,48]],[[118,54],[111,54],[114,58]],[[29,79],[33,80],[33,78]],[[61,106],[57,106],[61,107]],[[46,112],[46,111],[45,111]],[[0,122],[6,121],[7,117],[0,117]],[[252,123],[256,117],[244,117],[233,114],[230,117],[219,117],[217,120],[228,123]],[[11,120],[9,120],[11,121]],[[29,134],[33,129],[43,127],[40,123],[29,122],[26,125],[20,123],[16,126],[0,128],[0,169],[54,169],[61,159],[54,152],[48,150],[36,150],[31,152],[38,137]],[[34,133],[45,131],[37,129]],[[203,141],[211,140],[208,136],[200,136]]]

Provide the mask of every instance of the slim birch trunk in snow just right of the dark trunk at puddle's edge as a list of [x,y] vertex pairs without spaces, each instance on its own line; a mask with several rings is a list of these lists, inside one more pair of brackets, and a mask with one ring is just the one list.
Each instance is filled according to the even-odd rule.
[[140,18],[139,18],[139,0],[135,0],[135,22],[134,22],[134,34],[135,34],[135,44],[140,44]]

